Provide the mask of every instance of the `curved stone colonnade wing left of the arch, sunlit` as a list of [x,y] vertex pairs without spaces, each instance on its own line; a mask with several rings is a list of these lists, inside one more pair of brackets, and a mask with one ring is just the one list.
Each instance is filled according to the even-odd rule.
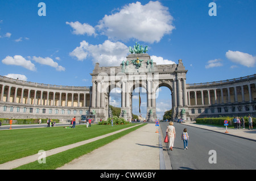
[[90,87],[45,85],[0,76],[0,117],[70,120],[89,112]]

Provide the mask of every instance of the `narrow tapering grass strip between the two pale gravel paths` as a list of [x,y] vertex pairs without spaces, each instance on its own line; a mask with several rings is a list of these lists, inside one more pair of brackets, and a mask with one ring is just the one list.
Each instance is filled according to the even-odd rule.
[[[28,163],[26,165],[17,167],[14,170],[54,170],[54,169],[57,169],[61,166],[64,166],[66,163],[71,162],[73,159],[79,158],[84,154],[90,153],[94,149],[97,149],[97,148],[100,148],[101,146],[109,144],[110,142],[117,140],[118,138],[125,136],[125,134],[133,132],[138,128],[141,128],[144,125],[146,125],[146,124],[141,124],[141,125],[138,125],[137,127],[130,128],[130,129],[127,129],[120,133],[113,134],[112,136],[108,136],[108,137],[102,138],[100,140],[93,141],[88,144],[78,146],[76,148],[69,149],[69,150],[63,151],[61,153],[51,155],[49,157],[46,157],[46,163],[39,163],[38,161],[35,161],[32,163]],[[81,168],[81,169],[85,169],[85,168]],[[89,166],[86,169],[89,169]]]

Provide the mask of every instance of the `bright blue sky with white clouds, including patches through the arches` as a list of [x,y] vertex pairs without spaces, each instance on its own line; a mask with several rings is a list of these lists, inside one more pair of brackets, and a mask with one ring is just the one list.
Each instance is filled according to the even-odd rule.
[[[38,15],[40,2],[46,16]],[[217,16],[209,15],[210,2],[216,3]],[[254,7],[254,0],[0,1],[0,75],[92,86],[95,62],[118,66],[135,42],[148,45],[157,64],[182,59],[187,83],[255,74]],[[113,95],[112,103],[119,99]],[[138,114],[135,102],[136,97]],[[145,116],[146,95],[142,102]],[[160,119],[171,109],[166,87],[159,90],[156,106]]]

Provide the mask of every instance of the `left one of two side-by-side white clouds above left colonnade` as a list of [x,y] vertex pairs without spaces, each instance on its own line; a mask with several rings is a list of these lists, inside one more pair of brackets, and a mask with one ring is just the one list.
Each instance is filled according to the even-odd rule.
[[14,57],[7,56],[5,59],[2,60],[2,63],[6,65],[22,66],[23,68],[26,68],[32,71],[36,70],[35,65],[32,64],[30,60],[26,60],[20,55],[15,55]]

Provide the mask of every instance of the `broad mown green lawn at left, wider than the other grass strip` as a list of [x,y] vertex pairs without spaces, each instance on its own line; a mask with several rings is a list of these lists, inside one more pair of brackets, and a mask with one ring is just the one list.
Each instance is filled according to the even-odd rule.
[[0,132],[0,164],[37,154],[39,150],[51,150],[79,141],[131,127],[124,125],[76,125],[75,129],[64,127],[12,129]]

